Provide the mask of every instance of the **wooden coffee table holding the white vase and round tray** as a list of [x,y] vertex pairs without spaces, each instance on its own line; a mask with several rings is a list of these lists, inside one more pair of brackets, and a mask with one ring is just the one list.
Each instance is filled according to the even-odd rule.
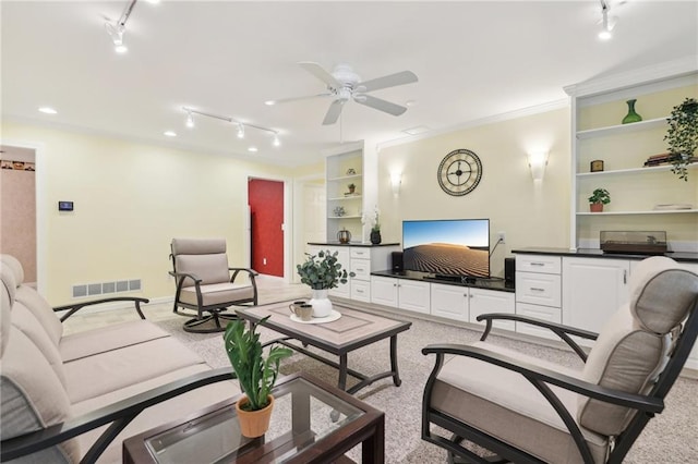
[[[275,303],[264,306],[236,309],[238,316],[250,322],[258,322],[262,318],[269,316],[264,322],[267,327],[286,337],[265,343],[281,343],[314,359],[325,363],[339,369],[337,387],[348,393],[356,393],[364,387],[370,386],[378,379],[393,377],[396,387],[401,383],[397,367],[397,334],[408,330],[412,322],[390,319],[361,312],[349,304],[333,302],[335,310],[341,317],[332,322],[325,323],[303,323],[291,320],[288,305],[292,302]],[[390,370],[366,376],[347,365],[347,355],[360,347],[370,345],[381,340],[390,339]],[[301,345],[291,343],[297,340]],[[313,353],[305,349],[306,345],[315,346],[324,352],[339,356],[339,363]],[[347,389],[347,375],[360,379],[359,383]]]

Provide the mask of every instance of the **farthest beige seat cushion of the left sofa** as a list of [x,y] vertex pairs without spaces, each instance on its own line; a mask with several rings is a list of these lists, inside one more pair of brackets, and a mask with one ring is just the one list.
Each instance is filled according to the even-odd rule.
[[68,363],[165,337],[170,335],[154,323],[139,319],[65,335],[59,350],[63,362]]

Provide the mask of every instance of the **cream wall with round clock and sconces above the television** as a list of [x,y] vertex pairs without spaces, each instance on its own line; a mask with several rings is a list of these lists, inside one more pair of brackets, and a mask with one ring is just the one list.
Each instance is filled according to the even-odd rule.
[[[506,244],[491,258],[493,276],[504,274],[504,258],[527,246],[569,247],[570,190],[569,109],[465,129],[383,148],[377,155],[378,207],[384,242],[401,241],[408,219],[490,218],[490,242],[498,231]],[[436,180],[441,160],[467,148],[482,161],[482,180],[470,194],[454,197]],[[526,154],[549,150],[542,181],[533,182]],[[390,172],[402,172],[399,196],[389,186]]]

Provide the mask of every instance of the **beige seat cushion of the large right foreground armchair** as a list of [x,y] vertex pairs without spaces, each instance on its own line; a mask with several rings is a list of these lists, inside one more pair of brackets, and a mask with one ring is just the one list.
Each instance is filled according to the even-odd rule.
[[[479,346],[570,377],[580,373],[529,357],[486,342]],[[575,417],[577,394],[552,387]],[[525,449],[545,462],[581,463],[581,455],[564,423],[524,376],[466,356],[448,359],[434,383],[431,404],[444,414]],[[595,462],[603,462],[607,440],[581,428]]]

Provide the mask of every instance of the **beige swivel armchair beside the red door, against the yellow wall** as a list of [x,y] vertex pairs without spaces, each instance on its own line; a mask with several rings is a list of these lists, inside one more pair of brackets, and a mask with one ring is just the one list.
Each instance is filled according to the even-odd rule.
[[[173,270],[177,292],[173,313],[193,316],[184,322],[188,332],[218,332],[225,330],[220,319],[232,320],[237,316],[226,313],[233,305],[256,305],[257,286],[255,271],[228,267],[226,241],[222,239],[172,239]],[[236,282],[242,274],[246,282]],[[242,280],[242,279],[240,279]],[[180,308],[195,310],[196,314]]]

